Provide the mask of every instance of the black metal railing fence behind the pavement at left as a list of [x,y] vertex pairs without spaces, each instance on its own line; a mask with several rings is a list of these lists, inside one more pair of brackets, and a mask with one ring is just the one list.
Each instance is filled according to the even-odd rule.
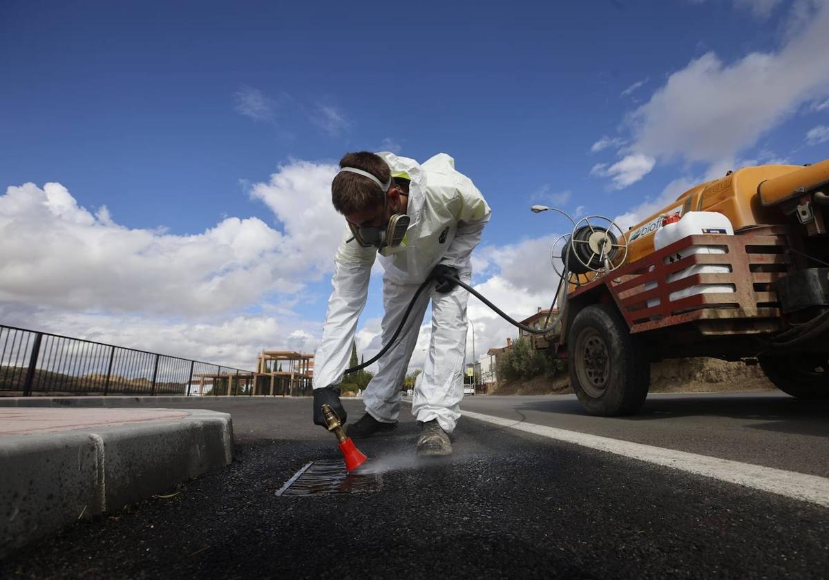
[[254,381],[248,370],[0,325],[0,396],[243,395]]

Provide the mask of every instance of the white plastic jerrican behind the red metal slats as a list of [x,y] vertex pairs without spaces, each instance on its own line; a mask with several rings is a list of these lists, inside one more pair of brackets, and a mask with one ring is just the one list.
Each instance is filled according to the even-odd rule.
[[[666,224],[662,225],[662,227],[657,230],[657,233],[654,234],[653,237],[653,245],[655,249],[660,250],[665,248],[674,242],[686,238],[689,235],[694,234],[723,234],[723,235],[734,235],[734,227],[731,225],[731,221],[725,217],[725,215],[720,214],[716,211],[689,211],[686,215],[681,217],[681,220],[673,223],[673,224]],[[664,261],[665,263],[673,263],[676,262],[678,259],[685,258],[691,254],[725,254],[725,246],[718,246],[718,245],[692,245],[686,249],[683,249],[681,254],[672,254],[668,256]],[[693,276],[695,274],[703,274],[703,273],[729,273],[731,271],[730,266],[718,266],[713,264],[695,264],[689,268],[685,268],[680,270],[679,272],[675,272],[669,274],[667,277],[667,282],[675,282],[676,280],[681,280],[682,278],[687,278],[688,276]],[[652,288],[656,288],[657,284],[655,282],[647,283],[645,288],[650,290]],[[734,284],[696,284],[689,288],[683,288],[682,290],[677,290],[676,292],[671,292],[670,296],[668,297],[671,302],[675,300],[679,300],[681,298],[694,296],[695,294],[705,294],[705,293],[728,293],[734,292],[736,288],[734,288]],[[651,298],[647,301],[648,307],[655,307],[659,305],[659,298]]]

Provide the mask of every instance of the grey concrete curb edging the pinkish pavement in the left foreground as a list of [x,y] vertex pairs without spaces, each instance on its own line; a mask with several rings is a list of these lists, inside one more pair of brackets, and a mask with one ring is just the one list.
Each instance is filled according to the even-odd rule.
[[0,558],[75,520],[228,465],[230,415],[177,410],[187,417],[0,437]]

